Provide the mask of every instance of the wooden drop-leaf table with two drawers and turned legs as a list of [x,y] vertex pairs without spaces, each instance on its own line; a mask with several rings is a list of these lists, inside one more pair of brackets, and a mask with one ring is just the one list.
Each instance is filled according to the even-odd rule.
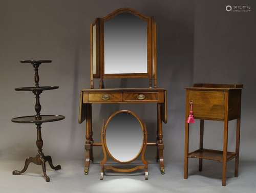
[[[93,94],[93,95],[91,95]],[[102,96],[108,94],[110,98],[103,100]],[[139,100],[139,95],[145,95],[145,99]],[[91,95],[91,96],[90,96]],[[90,97],[91,99],[89,99]],[[121,97],[121,98],[120,98]],[[148,100],[150,99],[150,100]],[[164,89],[83,89],[80,93],[80,106],[78,122],[82,123],[89,119],[86,124],[86,163],[84,173],[88,174],[90,167],[90,157],[92,154],[92,146],[101,146],[101,143],[95,143],[92,140],[92,118],[91,107],[88,111],[88,104],[116,104],[116,103],[156,103],[157,104],[157,139],[156,142],[149,142],[148,145],[157,147],[157,161],[159,161],[161,174],[164,174],[164,157],[163,157],[163,132],[162,122],[167,123],[167,92]],[[89,115],[87,117],[87,115]]]

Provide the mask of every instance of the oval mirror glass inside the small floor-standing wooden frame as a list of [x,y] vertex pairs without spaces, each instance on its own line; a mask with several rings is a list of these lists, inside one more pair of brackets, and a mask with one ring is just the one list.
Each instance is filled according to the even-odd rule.
[[116,160],[127,162],[138,156],[143,145],[143,129],[135,116],[118,113],[106,126],[106,147]]

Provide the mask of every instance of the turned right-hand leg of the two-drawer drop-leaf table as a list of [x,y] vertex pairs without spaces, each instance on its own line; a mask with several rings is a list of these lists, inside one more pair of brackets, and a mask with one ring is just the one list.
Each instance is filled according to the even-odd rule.
[[163,162],[163,128],[162,128],[162,109],[161,103],[157,103],[157,152],[160,164],[161,174],[164,174],[164,162]]

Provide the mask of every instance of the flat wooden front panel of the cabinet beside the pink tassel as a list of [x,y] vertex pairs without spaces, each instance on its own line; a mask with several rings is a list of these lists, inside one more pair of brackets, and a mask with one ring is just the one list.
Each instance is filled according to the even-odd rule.
[[[188,100],[193,101],[193,113],[195,118],[224,119],[225,92],[189,91]],[[189,105],[187,106],[190,108]]]

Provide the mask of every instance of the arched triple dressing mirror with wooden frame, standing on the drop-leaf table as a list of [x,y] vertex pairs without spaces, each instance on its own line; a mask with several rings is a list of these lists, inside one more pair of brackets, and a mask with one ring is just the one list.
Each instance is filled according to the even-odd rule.
[[121,8],[91,24],[91,88],[99,78],[148,78],[157,87],[156,24],[153,17]]

